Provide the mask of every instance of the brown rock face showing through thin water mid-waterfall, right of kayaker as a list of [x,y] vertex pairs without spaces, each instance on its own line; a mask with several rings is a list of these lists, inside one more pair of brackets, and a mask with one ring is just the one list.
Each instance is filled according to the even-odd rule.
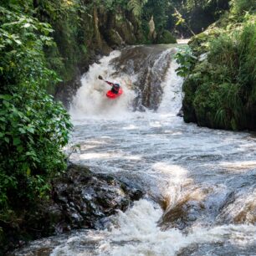
[[112,60],[111,64],[119,70],[117,75],[137,74],[137,80],[133,83],[137,94],[135,110],[158,109],[163,94],[161,83],[166,78],[174,54],[176,49],[167,44],[146,45],[123,49],[120,57]]

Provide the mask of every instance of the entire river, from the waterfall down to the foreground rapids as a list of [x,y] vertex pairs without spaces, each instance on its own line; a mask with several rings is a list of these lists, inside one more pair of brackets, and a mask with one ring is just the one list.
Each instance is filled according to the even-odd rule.
[[[176,48],[113,52],[84,75],[70,109],[70,145],[80,147],[71,160],[133,183],[146,196],[118,212],[105,230],[35,241],[16,255],[256,255],[256,137],[177,117],[182,79],[172,59]],[[143,51],[147,71],[134,63]],[[124,95],[106,99],[109,87],[99,74],[120,82]]]

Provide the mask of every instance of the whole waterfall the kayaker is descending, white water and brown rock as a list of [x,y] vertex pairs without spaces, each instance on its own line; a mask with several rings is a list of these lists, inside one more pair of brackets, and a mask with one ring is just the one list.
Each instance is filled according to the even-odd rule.
[[[74,96],[70,113],[74,118],[119,117],[132,110],[174,111],[181,107],[182,79],[177,77],[173,47],[130,47],[114,51],[90,66]],[[133,56],[133,59],[131,59]],[[110,85],[98,79],[118,82],[124,90],[116,100],[105,94]],[[161,103],[162,102],[162,103]]]

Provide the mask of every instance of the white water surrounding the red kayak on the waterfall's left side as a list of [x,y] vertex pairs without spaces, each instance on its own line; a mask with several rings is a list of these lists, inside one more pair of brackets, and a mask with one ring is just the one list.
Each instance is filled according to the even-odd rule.
[[[114,51],[110,56],[100,59],[100,64],[93,64],[90,70],[82,78],[82,86],[79,88],[71,105],[70,114],[77,119],[120,116],[131,112],[131,100],[135,98],[135,93],[131,90],[132,78],[126,76],[116,77],[111,74],[115,72],[110,66],[110,60],[120,56],[119,51]],[[102,75],[104,79],[116,81],[122,84],[124,93],[121,100],[110,100],[105,94],[111,89],[109,84],[98,79]]]

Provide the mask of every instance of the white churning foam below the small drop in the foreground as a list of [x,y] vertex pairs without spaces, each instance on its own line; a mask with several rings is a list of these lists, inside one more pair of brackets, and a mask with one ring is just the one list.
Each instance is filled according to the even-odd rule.
[[[182,248],[200,243],[233,243],[248,246],[255,242],[253,225],[223,225],[212,228],[193,227],[188,234],[172,228],[163,231],[158,227],[161,208],[141,199],[127,212],[119,212],[115,226],[110,231],[88,233],[87,237],[74,236],[67,243],[54,249],[51,256],[60,255],[111,255],[111,256],[172,256]],[[97,243],[94,253],[75,251],[79,243],[87,240]],[[76,245],[76,246],[74,246]],[[73,254],[72,254],[73,253]]]

